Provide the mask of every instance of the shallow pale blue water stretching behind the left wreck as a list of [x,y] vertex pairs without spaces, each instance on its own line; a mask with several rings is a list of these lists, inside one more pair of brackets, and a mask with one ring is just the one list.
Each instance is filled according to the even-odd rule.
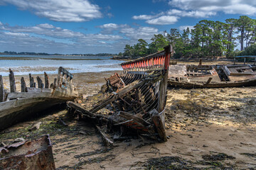
[[[122,62],[117,60],[110,60],[110,57],[78,57],[55,55],[0,55],[0,57],[28,57],[35,59],[0,60],[0,75],[2,76],[9,75],[9,68],[14,71],[15,75],[24,75],[28,73],[42,74],[43,72],[47,72],[48,74],[55,74],[58,72],[58,67],[60,66],[70,70],[72,73],[106,72],[122,69],[122,67],[119,65]],[[51,58],[58,58],[60,60],[51,60]]]

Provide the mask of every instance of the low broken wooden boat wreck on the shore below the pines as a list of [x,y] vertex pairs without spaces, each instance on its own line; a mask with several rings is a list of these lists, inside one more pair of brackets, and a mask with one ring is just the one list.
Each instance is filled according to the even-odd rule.
[[250,64],[171,65],[168,84],[187,89],[256,86],[256,67]]

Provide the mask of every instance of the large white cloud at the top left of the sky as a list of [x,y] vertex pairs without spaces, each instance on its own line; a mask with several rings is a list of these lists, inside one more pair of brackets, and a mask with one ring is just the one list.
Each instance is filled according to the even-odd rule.
[[82,22],[101,18],[100,7],[88,0],[2,0],[18,6],[21,10],[33,11],[37,16],[52,21]]

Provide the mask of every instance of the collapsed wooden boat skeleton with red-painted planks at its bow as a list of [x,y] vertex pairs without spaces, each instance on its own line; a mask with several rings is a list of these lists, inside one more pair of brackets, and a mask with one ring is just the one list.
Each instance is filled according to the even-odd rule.
[[[68,101],[70,113],[93,120],[105,145],[139,134],[166,141],[164,111],[171,46],[163,51],[121,64],[101,91],[83,103]],[[107,133],[106,133],[107,132]],[[112,135],[110,135],[112,134]]]

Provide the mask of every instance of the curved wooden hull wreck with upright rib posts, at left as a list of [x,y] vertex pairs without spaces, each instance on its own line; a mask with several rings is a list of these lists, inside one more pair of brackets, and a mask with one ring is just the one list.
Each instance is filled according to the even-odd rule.
[[75,91],[72,84],[73,74],[60,67],[58,69],[58,78],[54,79],[53,84],[49,84],[48,74],[44,73],[45,84],[40,77],[36,77],[36,82],[29,74],[30,87],[21,77],[21,91],[16,91],[14,72],[9,70],[10,90],[4,89],[4,82],[0,75],[0,130],[26,119],[33,113],[38,113],[55,106],[58,103],[72,101],[78,97],[78,91]]

